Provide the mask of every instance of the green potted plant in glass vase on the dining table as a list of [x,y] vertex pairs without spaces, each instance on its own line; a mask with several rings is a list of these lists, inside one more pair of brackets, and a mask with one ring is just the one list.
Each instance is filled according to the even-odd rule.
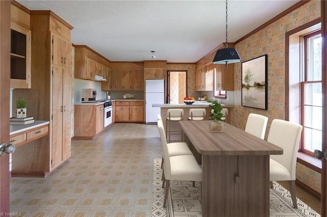
[[211,113],[209,114],[209,118],[213,120],[209,124],[210,131],[213,132],[224,131],[224,123],[222,122],[223,114],[221,113],[223,108],[221,104],[217,100],[214,101],[208,100],[207,102],[211,103],[209,104],[209,107],[211,108]]

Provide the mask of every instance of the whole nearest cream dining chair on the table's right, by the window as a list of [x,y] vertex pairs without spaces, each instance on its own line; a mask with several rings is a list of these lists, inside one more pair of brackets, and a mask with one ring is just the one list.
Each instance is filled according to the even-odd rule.
[[267,141],[284,149],[283,155],[270,155],[270,187],[272,181],[289,181],[294,208],[296,158],[302,126],[289,121],[274,119],[271,123]]

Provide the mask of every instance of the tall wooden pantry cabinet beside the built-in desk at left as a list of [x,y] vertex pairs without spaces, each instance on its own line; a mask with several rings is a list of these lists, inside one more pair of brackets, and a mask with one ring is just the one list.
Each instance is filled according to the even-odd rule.
[[32,141],[28,148],[19,147],[23,159],[15,164],[12,173],[17,169],[26,176],[44,177],[71,155],[72,60],[68,47],[73,26],[51,11],[31,11],[30,26],[33,85],[31,89],[13,90],[12,98],[25,98],[29,116],[50,122],[49,136]]

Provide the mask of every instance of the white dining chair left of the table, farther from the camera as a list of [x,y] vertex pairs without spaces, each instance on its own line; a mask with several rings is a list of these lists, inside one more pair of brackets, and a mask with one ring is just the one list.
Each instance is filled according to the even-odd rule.
[[[159,124],[159,122],[162,123],[162,120],[158,120],[157,124]],[[165,144],[167,144],[168,155],[170,157],[178,156],[178,155],[193,155],[188,144],[185,142],[167,143],[165,133],[164,133],[164,136],[162,136],[160,134],[160,140],[161,140],[161,143],[164,142]],[[164,165],[164,156],[162,155],[161,168],[163,165]]]

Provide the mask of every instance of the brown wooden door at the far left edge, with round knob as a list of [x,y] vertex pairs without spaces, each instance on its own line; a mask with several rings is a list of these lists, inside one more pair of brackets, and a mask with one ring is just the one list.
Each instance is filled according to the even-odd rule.
[[[0,1],[0,142],[9,143],[10,1]],[[9,214],[9,154],[0,155],[0,212]]]

